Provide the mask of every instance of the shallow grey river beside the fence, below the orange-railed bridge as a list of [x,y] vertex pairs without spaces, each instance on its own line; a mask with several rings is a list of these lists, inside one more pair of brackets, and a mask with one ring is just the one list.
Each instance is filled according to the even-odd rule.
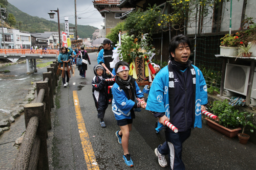
[[[36,64],[55,60],[36,61]],[[37,68],[37,72],[27,75],[25,63],[0,67],[0,70],[10,70],[9,73],[0,77],[0,120],[8,118],[10,112],[24,102],[24,98],[32,88],[31,82],[42,81],[42,72],[47,72],[47,67]]]

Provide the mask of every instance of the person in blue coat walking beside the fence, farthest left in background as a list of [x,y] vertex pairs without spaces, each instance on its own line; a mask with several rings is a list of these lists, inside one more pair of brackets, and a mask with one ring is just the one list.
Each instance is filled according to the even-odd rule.
[[[69,52],[68,52],[69,49]],[[70,59],[69,56],[73,53],[72,48],[67,48],[66,46],[62,46],[59,56],[58,56],[58,63],[61,63],[61,68],[63,68],[63,63],[66,63],[65,65],[67,66],[67,64],[70,66]],[[69,85],[69,74],[68,74],[68,68],[65,67],[65,73],[63,74],[64,76],[62,77],[62,83],[63,83],[63,87],[67,87],[67,85]],[[67,76],[67,82],[65,81],[65,77]]]

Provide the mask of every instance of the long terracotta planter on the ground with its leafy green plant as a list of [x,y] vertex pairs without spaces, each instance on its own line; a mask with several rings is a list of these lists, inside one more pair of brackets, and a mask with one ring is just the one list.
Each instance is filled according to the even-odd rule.
[[210,110],[220,118],[219,122],[215,122],[210,118],[206,117],[207,124],[210,128],[226,135],[227,137],[237,136],[239,130],[238,110],[228,104],[227,100],[215,101],[210,107]]

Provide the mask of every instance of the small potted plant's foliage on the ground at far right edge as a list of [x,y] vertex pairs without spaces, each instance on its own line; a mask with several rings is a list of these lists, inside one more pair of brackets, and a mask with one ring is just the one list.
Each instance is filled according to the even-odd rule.
[[254,114],[249,112],[240,112],[237,119],[239,120],[239,123],[243,126],[242,134],[245,131],[245,127],[247,125],[250,125],[252,129],[250,129],[251,133],[253,133],[253,128],[256,128],[255,125],[251,123],[251,119],[253,118]]

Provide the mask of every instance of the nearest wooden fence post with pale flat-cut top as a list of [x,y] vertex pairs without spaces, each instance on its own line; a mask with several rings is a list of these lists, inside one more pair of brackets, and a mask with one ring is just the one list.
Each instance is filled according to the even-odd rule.
[[[37,84],[37,83],[36,83]],[[29,119],[32,116],[37,116],[39,124],[36,135],[40,139],[39,159],[37,169],[49,169],[48,153],[47,153],[47,130],[46,130],[46,116],[44,111],[44,104],[42,103],[30,103],[24,106],[25,111],[25,124],[26,128],[29,123]]]

